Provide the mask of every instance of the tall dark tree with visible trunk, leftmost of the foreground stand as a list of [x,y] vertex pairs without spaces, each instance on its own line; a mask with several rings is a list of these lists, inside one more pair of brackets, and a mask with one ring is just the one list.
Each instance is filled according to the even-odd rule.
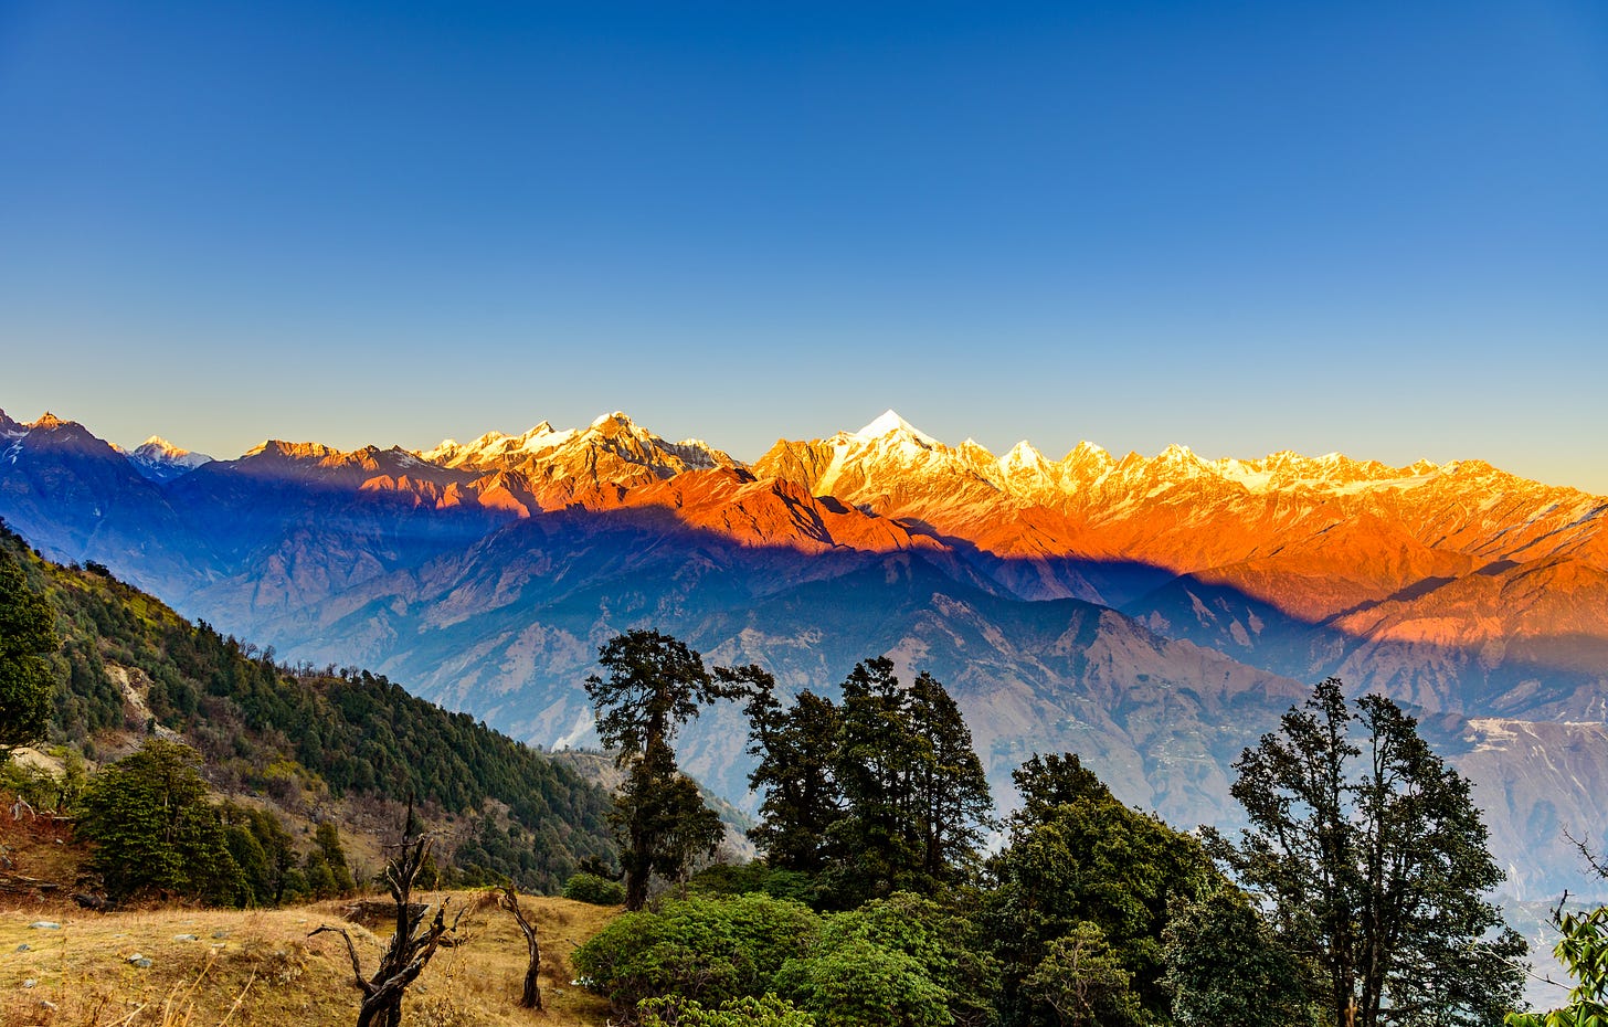
[[598,662],[608,677],[587,677],[587,696],[598,738],[627,768],[609,821],[621,842],[626,908],[640,910],[654,873],[675,876],[691,855],[712,853],[720,842],[720,820],[675,767],[671,739],[701,702],[736,689],[717,683],[696,651],[659,632],[616,635],[598,649]]

